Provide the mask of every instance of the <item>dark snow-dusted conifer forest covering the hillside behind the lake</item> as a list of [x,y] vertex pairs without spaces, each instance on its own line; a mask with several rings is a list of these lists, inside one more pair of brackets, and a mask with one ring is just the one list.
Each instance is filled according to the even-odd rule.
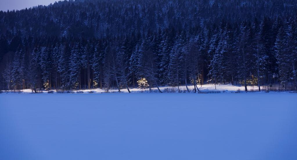
[[0,90],[120,90],[139,80],[297,90],[296,4],[84,0],[0,11]]

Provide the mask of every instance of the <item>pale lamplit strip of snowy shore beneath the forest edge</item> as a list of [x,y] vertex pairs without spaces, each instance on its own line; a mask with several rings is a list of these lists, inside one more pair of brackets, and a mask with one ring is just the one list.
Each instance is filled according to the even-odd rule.
[[[161,91],[164,91],[165,89],[168,89],[167,91],[165,90],[165,92],[178,92],[178,87],[170,87],[170,86],[161,86],[159,87]],[[180,92],[186,92],[186,86],[180,86]],[[194,90],[194,86],[189,85],[188,86],[189,90],[191,90],[191,92],[193,92]],[[242,85],[232,85],[232,84],[217,84],[216,86],[214,84],[205,84],[201,86],[198,86],[198,89],[202,92],[206,92],[206,91],[221,91],[221,92],[238,92],[238,90],[240,90],[241,92],[244,91],[244,86]],[[257,86],[247,86],[247,89],[250,91],[252,89],[254,89],[255,91],[257,91]],[[261,89],[263,90],[263,86],[261,86]],[[105,93],[106,90],[105,89],[85,89],[85,90],[73,90],[71,91],[72,93],[76,93],[82,91],[83,93],[89,93],[90,91],[92,91],[92,93]],[[149,92],[149,89],[138,89],[138,88],[130,88],[131,92]],[[3,92],[7,92],[7,91],[3,91]],[[56,93],[55,90],[52,90],[53,93]],[[65,93],[67,91],[64,91]],[[109,92],[119,92],[118,89],[110,89]],[[121,92],[123,93],[128,93],[127,89],[121,89]],[[152,88],[152,92],[158,92],[157,88]],[[21,90],[20,93],[32,93],[31,89],[24,89]],[[43,91],[43,93],[48,93],[48,91]]]

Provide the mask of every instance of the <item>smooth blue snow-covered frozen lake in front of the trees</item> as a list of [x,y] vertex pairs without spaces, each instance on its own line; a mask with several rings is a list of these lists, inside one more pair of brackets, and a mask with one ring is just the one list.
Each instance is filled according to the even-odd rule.
[[3,160],[296,160],[297,94],[0,94]]

